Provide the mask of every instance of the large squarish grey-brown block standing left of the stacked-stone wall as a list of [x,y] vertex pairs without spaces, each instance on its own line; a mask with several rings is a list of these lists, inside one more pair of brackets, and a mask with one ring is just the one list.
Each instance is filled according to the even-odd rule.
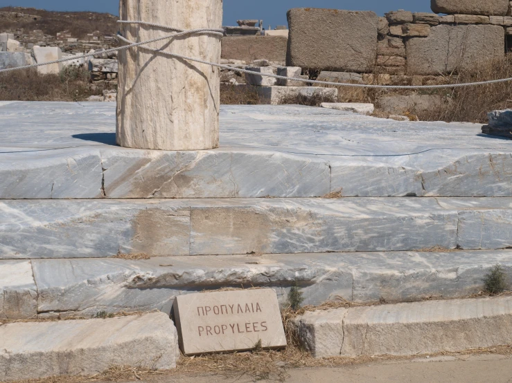
[[374,12],[294,8],[288,11],[288,24],[287,66],[364,72],[375,60],[378,17]]

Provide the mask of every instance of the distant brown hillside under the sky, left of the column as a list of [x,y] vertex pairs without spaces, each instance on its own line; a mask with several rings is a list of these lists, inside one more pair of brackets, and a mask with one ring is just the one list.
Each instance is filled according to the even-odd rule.
[[35,8],[0,8],[0,31],[42,30],[45,35],[55,36],[68,30],[73,37],[84,38],[88,33],[99,30],[102,35],[115,34],[118,17],[98,12],[54,12]]

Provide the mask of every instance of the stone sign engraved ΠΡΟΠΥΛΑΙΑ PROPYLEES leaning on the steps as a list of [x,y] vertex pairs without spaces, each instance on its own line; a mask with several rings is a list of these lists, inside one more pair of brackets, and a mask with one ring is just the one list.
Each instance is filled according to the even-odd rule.
[[174,317],[185,355],[286,346],[272,289],[205,292],[177,297]]

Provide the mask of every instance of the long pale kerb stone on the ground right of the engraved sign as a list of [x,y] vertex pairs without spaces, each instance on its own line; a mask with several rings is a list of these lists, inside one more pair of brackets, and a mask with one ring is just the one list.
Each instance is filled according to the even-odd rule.
[[290,321],[315,357],[418,355],[512,343],[512,297],[306,312]]

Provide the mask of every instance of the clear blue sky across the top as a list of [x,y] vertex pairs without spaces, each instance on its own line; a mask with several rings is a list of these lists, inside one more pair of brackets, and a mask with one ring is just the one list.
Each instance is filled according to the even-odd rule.
[[[482,0],[486,1],[486,0]],[[118,15],[118,0],[0,0],[0,6],[33,7],[46,10],[91,10]],[[373,10],[384,15],[389,10],[430,12],[430,0],[224,0],[224,25],[237,19],[263,19],[265,28],[286,24],[290,8],[335,8]]]

